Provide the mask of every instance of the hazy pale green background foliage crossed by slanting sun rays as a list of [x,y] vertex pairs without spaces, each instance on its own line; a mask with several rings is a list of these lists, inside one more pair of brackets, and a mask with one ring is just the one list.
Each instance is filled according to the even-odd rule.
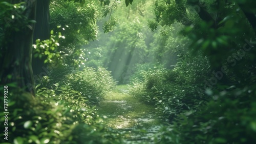
[[[175,64],[175,57],[168,58],[170,47],[160,47],[158,44],[164,41],[158,34],[162,29],[152,34],[143,25],[147,22],[147,18],[153,16],[150,12],[151,3],[134,1],[133,5],[126,9],[123,8],[125,7],[124,3],[116,5],[110,18],[111,20],[112,17],[116,17],[115,20],[118,23],[115,29],[107,34],[99,32],[99,40],[91,42],[87,46],[91,54],[88,55],[88,63],[85,65],[95,68],[107,67],[112,71],[114,78],[118,80],[118,84],[127,84],[130,83],[131,77],[141,77],[140,70],[153,68],[159,61],[166,64],[165,66],[168,68],[169,65]],[[117,19],[117,17],[119,18]],[[102,31],[105,31],[106,28],[112,30],[111,25],[106,25],[104,19],[99,22],[99,26],[105,27]],[[171,33],[168,31],[168,34]]]

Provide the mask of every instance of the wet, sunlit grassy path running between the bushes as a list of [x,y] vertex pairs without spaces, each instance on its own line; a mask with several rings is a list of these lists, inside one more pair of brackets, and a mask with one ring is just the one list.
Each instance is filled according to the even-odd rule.
[[152,143],[161,121],[155,107],[145,105],[127,94],[128,86],[117,86],[99,104],[106,125],[124,135],[126,143]]

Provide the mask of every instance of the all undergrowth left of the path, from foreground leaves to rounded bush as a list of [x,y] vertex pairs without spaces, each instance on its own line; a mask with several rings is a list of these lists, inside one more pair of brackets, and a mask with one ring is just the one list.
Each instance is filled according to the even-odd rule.
[[[122,143],[117,132],[105,127],[94,106],[115,85],[110,72],[70,70],[59,67],[42,77],[35,96],[9,87],[9,143]],[[5,121],[4,113],[0,116]]]

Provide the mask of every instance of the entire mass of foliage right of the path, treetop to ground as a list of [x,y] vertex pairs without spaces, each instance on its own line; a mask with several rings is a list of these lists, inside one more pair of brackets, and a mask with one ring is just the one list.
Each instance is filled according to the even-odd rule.
[[[248,39],[255,37],[251,29],[255,25],[254,18],[248,16],[254,14],[250,3],[154,2],[156,22],[150,22],[149,27],[154,30],[156,23],[170,26],[181,22],[186,26],[181,33],[191,40],[185,48],[194,53],[184,53],[188,51],[184,46],[173,47],[179,52],[179,61],[174,70],[158,74],[164,83],[152,78],[154,71],[148,71],[131,90],[132,95],[157,105],[169,119],[170,125],[155,135],[155,143],[254,142],[255,51],[250,48],[255,43]],[[198,9],[189,14],[189,6]],[[182,21],[187,16],[189,23]]]

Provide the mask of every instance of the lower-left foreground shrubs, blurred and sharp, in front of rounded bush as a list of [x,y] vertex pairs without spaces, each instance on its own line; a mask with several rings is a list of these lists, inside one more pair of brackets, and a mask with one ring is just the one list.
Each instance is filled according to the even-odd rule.
[[[122,143],[80,92],[69,84],[52,87],[37,89],[36,96],[9,88],[8,142]],[[3,115],[1,121],[5,120]]]

